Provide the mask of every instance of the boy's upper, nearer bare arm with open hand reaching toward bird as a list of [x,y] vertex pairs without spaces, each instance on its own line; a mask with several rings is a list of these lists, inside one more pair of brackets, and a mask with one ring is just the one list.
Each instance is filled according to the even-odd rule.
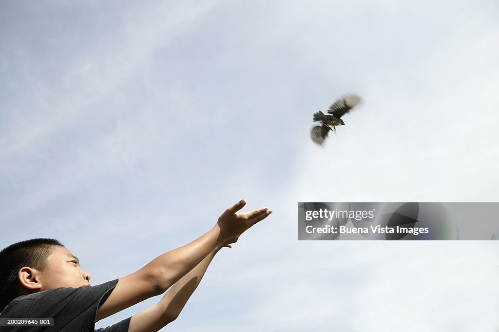
[[137,272],[120,278],[109,298],[98,309],[96,321],[163,294],[216,248],[237,241],[243,232],[272,212],[267,208],[260,208],[237,213],[245,205],[245,200],[239,201],[227,209],[217,224],[198,239],[167,252]]

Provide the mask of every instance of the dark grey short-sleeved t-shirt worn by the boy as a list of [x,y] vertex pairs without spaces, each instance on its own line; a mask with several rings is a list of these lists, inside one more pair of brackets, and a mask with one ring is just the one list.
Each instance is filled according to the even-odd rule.
[[53,326],[0,327],[0,332],[127,332],[130,318],[95,330],[97,309],[106,301],[118,280],[79,288],[56,288],[15,298],[0,318],[53,318]]

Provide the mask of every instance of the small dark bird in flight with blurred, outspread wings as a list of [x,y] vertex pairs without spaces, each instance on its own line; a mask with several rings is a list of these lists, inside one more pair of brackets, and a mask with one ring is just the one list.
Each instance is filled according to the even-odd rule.
[[[355,107],[361,98],[354,94],[347,94],[336,100],[327,110],[328,114],[318,111],[313,115],[314,121],[320,121],[321,124],[312,128],[310,131],[310,138],[315,143],[322,145],[327,137],[330,130],[336,132],[337,126],[342,126],[345,124],[341,117],[345,113],[349,113],[350,110]],[[329,115],[331,114],[331,115]]]

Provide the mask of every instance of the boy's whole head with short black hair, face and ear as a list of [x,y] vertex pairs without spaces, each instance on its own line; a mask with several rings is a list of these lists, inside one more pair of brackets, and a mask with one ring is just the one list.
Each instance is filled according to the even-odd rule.
[[90,275],[57,240],[32,239],[0,252],[0,312],[14,298],[59,287],[90,286]]

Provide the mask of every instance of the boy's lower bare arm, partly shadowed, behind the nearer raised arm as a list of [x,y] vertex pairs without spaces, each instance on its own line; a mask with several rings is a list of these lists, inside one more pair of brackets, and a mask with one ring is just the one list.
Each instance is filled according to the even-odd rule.
[[128,331],[156,332],[175,321],[219,250],[220,248],[213,250],[201,263],[176,282],[157,305],[132,316]]

